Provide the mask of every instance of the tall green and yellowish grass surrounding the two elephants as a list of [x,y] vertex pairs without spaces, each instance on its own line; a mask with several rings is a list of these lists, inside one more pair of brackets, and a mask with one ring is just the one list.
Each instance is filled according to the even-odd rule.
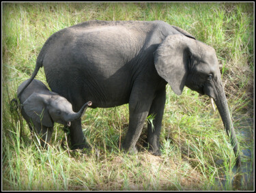
[[[253,3],[2,3],[3,190],[253,190],[254,5]],[[70,151],[67,133],[55,124],[47,149],[30,138],[25,120],[9,102],[31,76],[47,38],[85,20],[164,20],[216,49],[243,166],[233,183],[234,155],[210,100],[167,86],[160,143],[162,156],[142,144],[137,155],[119,151],[128,127],[128,105],[88,109],[83,132],[91,151]],[[37,79],[46,85],[44,70]],[[20,130],[22,132],[20,133]],[[244,153],[247,152],[247,153]],[[251,156],[246,156],[250,154]]]

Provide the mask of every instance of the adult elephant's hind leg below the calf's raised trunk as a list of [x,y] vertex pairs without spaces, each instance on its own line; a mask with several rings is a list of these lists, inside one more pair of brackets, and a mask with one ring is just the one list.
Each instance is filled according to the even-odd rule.
[[87,144],[85,140],[85,135],[83,134],[81,119],[77,119],[71,122],[70,142],[71,149],[89,149],[89,145]]

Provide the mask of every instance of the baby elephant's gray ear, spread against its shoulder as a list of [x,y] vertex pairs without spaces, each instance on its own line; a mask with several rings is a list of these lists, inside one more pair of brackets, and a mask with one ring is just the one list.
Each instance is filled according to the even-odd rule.
[[25,100],[23,103],[23,108],[25,113],[38,123],[42,123],[42,125],[52,128],[53,121],[48,113],[47,104],[48,100],[51,98],[50,95],[44,95],[41,93],[33,93]]

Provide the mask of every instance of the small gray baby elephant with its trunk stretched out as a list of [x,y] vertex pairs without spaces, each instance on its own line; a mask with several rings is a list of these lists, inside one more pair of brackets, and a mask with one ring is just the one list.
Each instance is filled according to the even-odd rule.
[[[82,106],[78,113],[74,113],[72,104],[66,98],[50,91],[44,83],[36,79],[19,95],[27,81],[25,80],[17,91],[21,104],[21,114],[27,121],[30,130],[35,128],[35,132],[40,134],[40,143],[43,147],[51,139],[54,122],[70,126],[70,122],[80,119],[87,106],[92,104],[89,101]],[[14,102],[17,103],[13,99],[12,106]]]

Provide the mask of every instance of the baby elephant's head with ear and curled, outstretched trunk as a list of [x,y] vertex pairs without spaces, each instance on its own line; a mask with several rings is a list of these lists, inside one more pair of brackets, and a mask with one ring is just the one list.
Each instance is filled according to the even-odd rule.
[[70,126],[70,122],[80,119],[91,104],[87,102],[78,113],[74,113],[72,104],[60,95],[33,93],[25,100],[23,108],[31,119],[46,127],[53,127],[54,122]]

